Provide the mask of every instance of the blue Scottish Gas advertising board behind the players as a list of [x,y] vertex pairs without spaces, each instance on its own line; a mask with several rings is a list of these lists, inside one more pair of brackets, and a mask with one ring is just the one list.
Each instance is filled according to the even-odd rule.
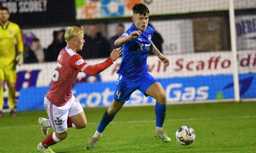
[[[232,75],[177,77],[158,79],[162,84],[167,103],[233,99],[234,87]],[[44,95],[48,87],[28,87],[21,89],[17,111],[43,110]],[[83,107],[107,107],[112,102],[116,82],[77,83],[73,94]],[[255,98],[256,74],[240,74],[239,87],[241,98]],[[126,106],[150,105],[155,99],[145,97],[140,91],[134,91]]]

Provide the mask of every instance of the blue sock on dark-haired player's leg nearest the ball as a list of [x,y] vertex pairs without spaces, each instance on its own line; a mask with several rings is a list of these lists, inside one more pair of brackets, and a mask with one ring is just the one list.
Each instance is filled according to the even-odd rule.
[[166,112],[167,104],[160,104],[156,102],[155,113],[156,113],[156,126],[163,127],[164,119],[165,119],[165,112]]

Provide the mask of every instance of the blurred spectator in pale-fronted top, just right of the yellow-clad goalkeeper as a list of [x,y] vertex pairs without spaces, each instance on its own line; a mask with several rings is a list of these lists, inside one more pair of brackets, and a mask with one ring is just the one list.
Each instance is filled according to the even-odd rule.
[[24,63],[44,62],[44,50],[38,38],[32,40],[31,48],[24,54]]

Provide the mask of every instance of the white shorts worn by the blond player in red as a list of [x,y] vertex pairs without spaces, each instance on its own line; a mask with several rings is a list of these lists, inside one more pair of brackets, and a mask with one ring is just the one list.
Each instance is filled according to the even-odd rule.
[[53,105],[46,96],[44,96],[44,107],[49,116],[52,128],[57,133],[63,133],[68,129],[68,117],[84,111],[74,95],[68,100],[67,104],[60,107]]

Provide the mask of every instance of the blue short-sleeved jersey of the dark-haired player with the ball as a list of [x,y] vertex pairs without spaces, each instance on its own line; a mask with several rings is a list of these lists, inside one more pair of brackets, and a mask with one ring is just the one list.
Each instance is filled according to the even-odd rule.
[[[133,31],[138,31],[134,23],[121,37],[128,36]],[[135,80],[148,73],[148,51],[154,32],[155,30],[151,26],[147,26],[139,37],[129,40],[123,45],[123,58],[117,71],[118,74],[126,79]]]

